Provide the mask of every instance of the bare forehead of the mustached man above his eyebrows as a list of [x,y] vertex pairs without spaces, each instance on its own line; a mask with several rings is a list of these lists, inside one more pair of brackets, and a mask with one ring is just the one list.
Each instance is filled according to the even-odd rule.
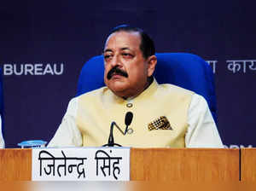
[[141,36],[139,32],[113,32],[108,36],[104,52],[111,51],[113,48],[132,49],[139,48]]

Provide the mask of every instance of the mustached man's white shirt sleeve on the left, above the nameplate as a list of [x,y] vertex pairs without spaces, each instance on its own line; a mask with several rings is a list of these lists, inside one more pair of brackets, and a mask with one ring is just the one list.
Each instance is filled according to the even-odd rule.
[[69,101],[67,113],[65,113],[61,125],[56,130],[55,136],[50,140],[48,148],[82,146],[82,136],[76,125],[77,111],[78,98],[73,98]]

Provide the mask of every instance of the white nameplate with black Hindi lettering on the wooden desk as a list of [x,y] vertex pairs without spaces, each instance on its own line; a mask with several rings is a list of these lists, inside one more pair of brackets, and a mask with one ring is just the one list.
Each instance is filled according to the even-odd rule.
[[32,149],[32,181],[129,181],[130,148]]

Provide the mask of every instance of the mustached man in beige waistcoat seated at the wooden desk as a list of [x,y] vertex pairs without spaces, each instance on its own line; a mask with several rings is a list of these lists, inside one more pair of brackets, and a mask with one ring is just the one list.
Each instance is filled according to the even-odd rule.
[[[130,134],[113,129],[115,142],[140,148],[222,148],[207,101],[172,84],[157,84],[154,43],[143,30],[118,26],[104,46],[107,87],[73,98],[48,147],[102,146],[111,122],[122,129],[132,112]],[[124,128],[123,128],[124,130]]]

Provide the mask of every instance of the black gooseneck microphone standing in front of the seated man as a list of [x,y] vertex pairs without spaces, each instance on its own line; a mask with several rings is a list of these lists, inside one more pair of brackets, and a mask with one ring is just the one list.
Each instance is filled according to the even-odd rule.
[[128,131],[128,126],[131,124],[131,120],[133,118],[133,114],[131,112],[127,112],[125,114],[125,125],[126,125],[126,128],[125,128],[125,132],[123,132],[123,130],[121,130],[119,128],[119,125],[117,125],[114,121],[111,123],[110,125],[110,132],[109,132],[109,137],[108,137],[108,144],[105,144],[103,145],[102,147],[113,147],[113,146],[119,146],[119,147],[122,147],[121,145],[119,145],[118,143],[114,143],[113,141],[113,126],[116,126],[118,128],[118,130],[125,136],[127,131]]

